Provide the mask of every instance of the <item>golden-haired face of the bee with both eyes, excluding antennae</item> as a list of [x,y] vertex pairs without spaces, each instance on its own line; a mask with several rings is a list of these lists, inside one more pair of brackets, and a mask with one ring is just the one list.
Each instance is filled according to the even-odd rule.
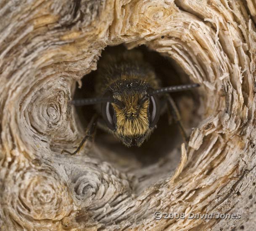
[[113,102],[102,103],[103,119],[109,129],[126,146],[140,146],[153,131],[160,114],[157,95],[134,90],[113,94]]

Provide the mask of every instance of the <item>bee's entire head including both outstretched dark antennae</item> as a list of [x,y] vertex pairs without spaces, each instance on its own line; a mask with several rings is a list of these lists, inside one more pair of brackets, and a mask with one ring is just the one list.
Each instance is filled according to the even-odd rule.
[[77,106],[101,103],[103,119],[112,133],[128,147],[140,146],[158,122],[161,109],[158,95],[199,86],[185,84],[153,90],[145,81],[117,81],[103,97],[76,99],[71,103]]

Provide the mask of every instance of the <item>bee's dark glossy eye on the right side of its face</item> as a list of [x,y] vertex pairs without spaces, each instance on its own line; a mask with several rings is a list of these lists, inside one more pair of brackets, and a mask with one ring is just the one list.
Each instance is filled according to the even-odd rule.
[[159,108],[159,99],[158,96],[153,95],[149,97],[149,106],[148,106],[148,120],[149,120],[149,127],[153,128],[156,123],[158,122],[160,115],[160,108]]

